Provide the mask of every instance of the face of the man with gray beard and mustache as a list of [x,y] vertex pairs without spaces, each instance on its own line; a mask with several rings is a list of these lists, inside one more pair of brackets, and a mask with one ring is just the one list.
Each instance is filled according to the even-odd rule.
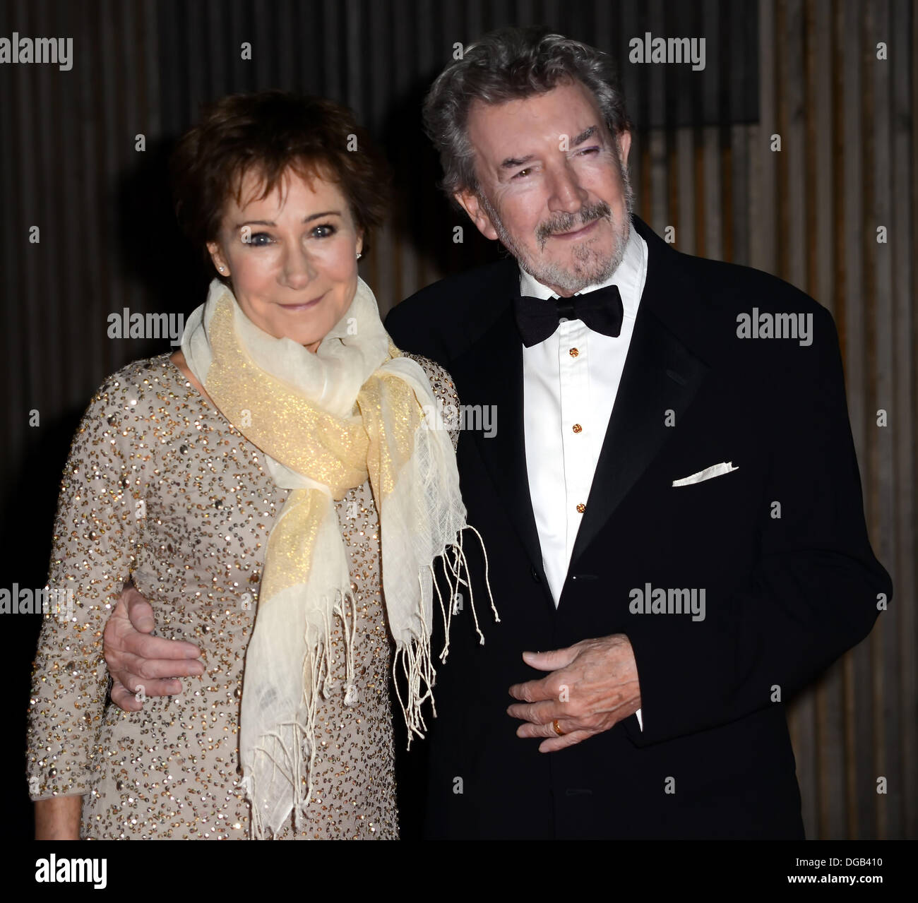
[[604,282],[624,256],[632,191],[618,142],[579,82],[469,110],[477,194],[456,200],[539,282],[562,296]]

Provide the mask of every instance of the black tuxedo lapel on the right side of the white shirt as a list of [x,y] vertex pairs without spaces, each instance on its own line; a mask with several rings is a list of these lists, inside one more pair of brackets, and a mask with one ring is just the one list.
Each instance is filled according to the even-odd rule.
[[571,570],[678,429],[708,370],[692,350],[703,347],[696,339],[706,318],[693,285],[680,278],[677,254],[637,217],[633,222],[648,244],[647,279]]

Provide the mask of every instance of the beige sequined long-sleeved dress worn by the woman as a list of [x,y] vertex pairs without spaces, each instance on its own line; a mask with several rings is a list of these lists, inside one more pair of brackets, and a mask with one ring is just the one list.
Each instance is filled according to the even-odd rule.
[[[438,400],[458,406],[449,374],[415,360]],[[237,771],[241,680],[268,533],[286,493],[262,452],[168,354],[113,374],[90,403],[63,475],[49,576],[51,589],[73,590],[73,620],[44,616],[28,724],[30,795],[84,794],[82,836],[249,837]],[[287,826],[283,839],[398,836],[390,639],[369,483],[337,510],[358,601],[360,701],[345,707],[332,693],[320,703],[308,822],[299,832]],[[156,634],[196,643],[207,666],[183,679],[181,696],[148,697],[130,713],[106,699],[102,652],[129,576],[151,601]],[[341,642],[339,623],[334,647]],[[341,687],[343,655],[336,667]]]

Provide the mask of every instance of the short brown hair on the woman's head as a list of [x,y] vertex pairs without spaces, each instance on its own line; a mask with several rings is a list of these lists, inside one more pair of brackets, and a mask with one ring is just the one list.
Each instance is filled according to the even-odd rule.
[[271,194],[287,170],[321,175],[341,188],[354,224],[364,233],[381,225],[388,209],[389,167],[346,106],[323,97],[273,90],[228,95],[202,110],[170,161],[175,214],[185,235],[207,258],[229,197],[242,203],[247,173]]

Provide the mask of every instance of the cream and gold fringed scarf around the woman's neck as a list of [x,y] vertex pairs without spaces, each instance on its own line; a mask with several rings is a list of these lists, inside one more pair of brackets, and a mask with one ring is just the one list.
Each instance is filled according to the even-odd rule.
[[[242,683],[241,783],[252,803],[252,835],[261,838],[282,828],[291,811],[296,824],[308,806],[319,694],[360,702],[356,603],[334,500],[369,477],[396,641],[393,673],[400,663],[408,678],[408,699],[399,693],[399,702],[409,741],[426,727],[421,703],[431,697],[432,704],[433,592],[448,636],[453,599],[468,585],[461,576],[465,506],[452,442],[435,428],[430,381],[392,344],[363,280],[312,353],[256,327],[215,279],[207,303],[188,318],[182,351],[224,417],[264,452],[274,483],[291,490],[268,540]],[[441,555],[445,609],[433,578]],[[493,600],[491,608],[497,618]],[[331,679],[335,619],[343,625],[344,686]],[[481,630],[478,636],[484,642]]]

